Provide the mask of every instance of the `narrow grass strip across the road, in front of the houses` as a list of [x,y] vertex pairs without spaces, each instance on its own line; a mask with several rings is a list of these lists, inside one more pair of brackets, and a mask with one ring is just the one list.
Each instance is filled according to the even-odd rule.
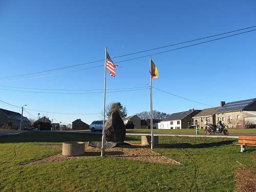
[[[129,129],[126,130],[128,133],[147,132],[150,133],[150,129]],[[256,129],[228,129],[229,134],[252,134],[256,135]],[[194,133],[195,129],[181,129],[181,130],[154,130],[154,133]],[[199,129],[199,134],[204,134],[204,129]]]

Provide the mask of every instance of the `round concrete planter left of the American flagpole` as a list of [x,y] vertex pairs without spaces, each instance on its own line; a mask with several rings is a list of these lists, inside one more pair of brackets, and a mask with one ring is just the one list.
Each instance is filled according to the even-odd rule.
[[62,143],[62,155],[79,156],[84,154],[84,142],[70,141]]

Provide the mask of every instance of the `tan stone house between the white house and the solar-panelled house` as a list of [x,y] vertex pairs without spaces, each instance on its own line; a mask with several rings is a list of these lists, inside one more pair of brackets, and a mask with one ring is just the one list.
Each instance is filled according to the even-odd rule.
[[220,108],[217,106],[215,108],[203,109],[200,113],[192,117],[193,124],[198,125],[201,129],[204,128],[204,122],[207,121],[210,124],[216,125],[216,111]]

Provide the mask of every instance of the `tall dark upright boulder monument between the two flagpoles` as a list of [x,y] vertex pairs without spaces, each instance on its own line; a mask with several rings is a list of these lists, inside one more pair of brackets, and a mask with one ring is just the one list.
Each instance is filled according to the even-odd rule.
[[105,141],[123,143],[126,131],[118,111],[114,111],[108,121],[106,121],[104,132]]

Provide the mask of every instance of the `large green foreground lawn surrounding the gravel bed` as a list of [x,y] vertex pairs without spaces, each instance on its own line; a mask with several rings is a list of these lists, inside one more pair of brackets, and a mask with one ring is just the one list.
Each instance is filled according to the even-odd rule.
[[[253,164],[256,147],[240,153],[236,139],[159,137],[157,153],[184,166],[94,157],[22,164],[60,153],[38,144],[100,140],[101,135],[24,132],[0,138],[0,191],[233,191],[234,170]],[[139,136],[126,137],[139,142]]]

